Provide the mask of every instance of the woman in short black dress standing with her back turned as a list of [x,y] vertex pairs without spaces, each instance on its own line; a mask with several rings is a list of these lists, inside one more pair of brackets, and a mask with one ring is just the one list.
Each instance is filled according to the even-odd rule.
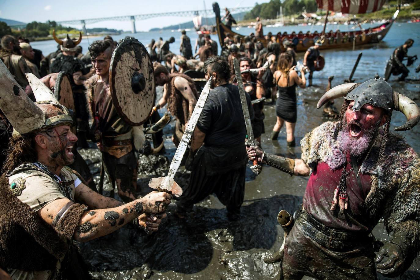
[[286,122],[287,147],[296,145],[294,141],[294,126],[297,116],[296,86],[300,86],[302,89],[306,86],[305,68],[302,67],[300,70],[302,77],[300,78],[294,70],[294,66],[292,67],[292,63],[293,58],[288,53],[283,52],[278,58],[277,71],[273,74],[278,99],[276,101],[277,121],[271,139],[277,139],[283,123]]

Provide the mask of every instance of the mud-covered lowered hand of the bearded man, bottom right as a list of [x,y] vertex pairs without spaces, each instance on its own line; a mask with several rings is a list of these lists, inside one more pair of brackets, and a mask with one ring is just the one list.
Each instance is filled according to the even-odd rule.
[[379,249],[375,263],[378,272],[386,277],[398,276],[404,268],[404,256],[401,248],[394,243],[386,243]]

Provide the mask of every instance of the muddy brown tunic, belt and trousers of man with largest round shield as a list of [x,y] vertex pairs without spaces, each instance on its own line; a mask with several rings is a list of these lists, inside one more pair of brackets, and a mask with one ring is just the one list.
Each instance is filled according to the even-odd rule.
[[[86,83],[87,100],[97,129],[102,133],[98,144],[102,160],[118,189],[135,192],[137,159],[133,149],[133,128],[118,115],[112,102],[109,84],[95,74]],[[121,197],[124,201],[128,199]]]

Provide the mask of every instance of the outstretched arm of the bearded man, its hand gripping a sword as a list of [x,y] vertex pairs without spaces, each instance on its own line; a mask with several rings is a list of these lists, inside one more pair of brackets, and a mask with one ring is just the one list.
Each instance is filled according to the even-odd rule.
[[309,167],[301,159],[291,159],[269,154],[258,146],[250,146],[246,149],[249,160],[257,159],[258,162],[266,163],[290,175],[308,176],[310,173]]

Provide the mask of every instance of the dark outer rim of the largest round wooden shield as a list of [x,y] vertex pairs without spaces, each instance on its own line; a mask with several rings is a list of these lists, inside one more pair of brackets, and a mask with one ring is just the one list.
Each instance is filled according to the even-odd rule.
[[[128,123],[130,126],[141,126],[142,124],[144,124],[149,118],[150,118],[150,114],[152,113],[153,110],[153,105],[150,107],[150,111],[147,114],[147,118],[145,118],[142,122],[139,123],[134,123],[132,120],[130,120],[127,115],[123,112],[123,110],[121,109],[120,103],[118,102],[118,98],[115,96],[114,92],[115,92],[115,82],[114,82],[114,77],[115,77],[115,68],[114,66],[114,57],[115,57],[115,53],[117,52],[117,50],[119,50],[121,47],[126,46],[127,44],[140,44],[144,50],[146,50],[146,54],[147,57],[149,58],[150,62],[152,62],[152,59],[150,58],[149,52],[147,52],[146,47],[144,47],[144,45],[137,40],[134,37],[129,37],[127,39],[122,39],[120,40],[120,42],[118,42],[117,46],[115,47],[115,50],[112,53],[112,57],[111,57],[111,63],[109,65],[109,88],[110,88],[110,94],[111,94],[111,99],[113,102],[113,105],[115,107],[115,110],[117,111],[118,115],[123,118],[123,120]],[[155,71],[153,70],[153,63],[152,63],[152,73],[153,73],[153,77],[155,77]],[[156,102],[156,84],[155,81],[152,80],[152,82],[154,83],[153,86],[153,101],[152,104],[155,104]]]

